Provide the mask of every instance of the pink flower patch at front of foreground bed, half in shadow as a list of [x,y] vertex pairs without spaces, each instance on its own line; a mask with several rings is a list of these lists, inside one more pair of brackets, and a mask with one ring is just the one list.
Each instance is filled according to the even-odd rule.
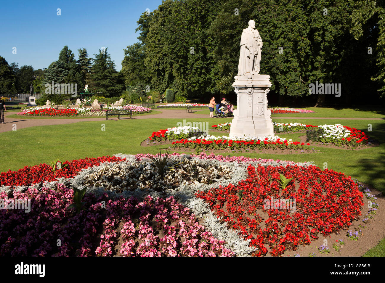
[[[133,197],[111,200],[106,194],[99,199],[87,194],[79,213],[68,209],[73,191],[62,184],[55,190],[13,191],[11,196],[2,192],[0,198],[31,203],[29,213],[0,211],[2,256],[112,256],[118,254],[115,248],[122,256],[234,255],[172,197],[148,196],[139,202]],[[52,244],[58,239],[60,246]]]

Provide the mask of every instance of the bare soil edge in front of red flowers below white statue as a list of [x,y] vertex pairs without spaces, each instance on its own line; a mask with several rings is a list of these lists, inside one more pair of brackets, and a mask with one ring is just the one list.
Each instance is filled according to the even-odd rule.
[[[146,139],[145,141],[141,142],[141,146],[147,147],[147,146],[157,146],[157,145],[170,145],[171,149],[175,151],[183,151],[183,152],[192,152],[195,153],[196,149],[190,148],[190,147],[172,147],[172,141],[150,141],[149,139]],[[229,148],[224,148],[224,149],[219,149],[219,150],[214,150],[214,149],[208,149],[204,150],[201,149],[201,152],[210,152],[213,154],[221,154],[221,153],[236,153],[236,152],[258,152],[258,153],[269,153],[269,154],[301,154],[301,153],[318,153],[320,152],[319,150],[314,150],[311,149],[310,146],[305,146],[303,149],[229,149]]]

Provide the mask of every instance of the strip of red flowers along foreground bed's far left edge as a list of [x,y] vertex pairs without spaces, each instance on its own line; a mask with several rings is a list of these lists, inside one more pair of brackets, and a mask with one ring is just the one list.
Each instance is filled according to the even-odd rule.
[[29,186],[33,183],[40,183],[43,181],[55,181],[56,178],[70,178],[75,176],[83,168],[91,166],[99,166],[103,162],[116,162],[125,159],[119,157],[102,156],[97,158],[65,161],[62,165],[67,164],[60,170],[52,171],[52,167],[48,164],[42,163],[33,167],[25,166],[17,171],[8,170],[7,172],[0,173],[0,185],[4,186]]

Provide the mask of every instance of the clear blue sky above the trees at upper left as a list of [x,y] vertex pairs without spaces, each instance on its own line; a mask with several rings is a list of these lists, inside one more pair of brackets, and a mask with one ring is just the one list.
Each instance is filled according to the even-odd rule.
[[[85,48],[90,57],[108,47],[108,53],[120,70],[123,49],[138,42],[137,20],[162,0],[85,1],[36,0],[2,1],[0,15],[0,55],[9,64],[17,62],[44,69],[59,57],[64,45],[74,52]],[[57,15],[57,8],[61,15]],[[16,47],[16,54],[12,54]]]

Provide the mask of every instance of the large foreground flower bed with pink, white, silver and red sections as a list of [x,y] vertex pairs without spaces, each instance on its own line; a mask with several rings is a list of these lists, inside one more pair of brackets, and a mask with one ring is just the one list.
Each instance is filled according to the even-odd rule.
[[[182,163],[161,178],[144,154],[114,157],[122,161],[41,186],[0,187],[0,199],[31,200],[30,213],[0,209],[0,254],[276,256],[347,229],[363,205],[350,177],[311,162],[174,153],[167,166]],[[295,180],[280,190],[278,173]],[[74,194],[63,183],[87,188],[79,213],[67,209]],[[297,211],[264,210],[267,196],[295,199]]]

